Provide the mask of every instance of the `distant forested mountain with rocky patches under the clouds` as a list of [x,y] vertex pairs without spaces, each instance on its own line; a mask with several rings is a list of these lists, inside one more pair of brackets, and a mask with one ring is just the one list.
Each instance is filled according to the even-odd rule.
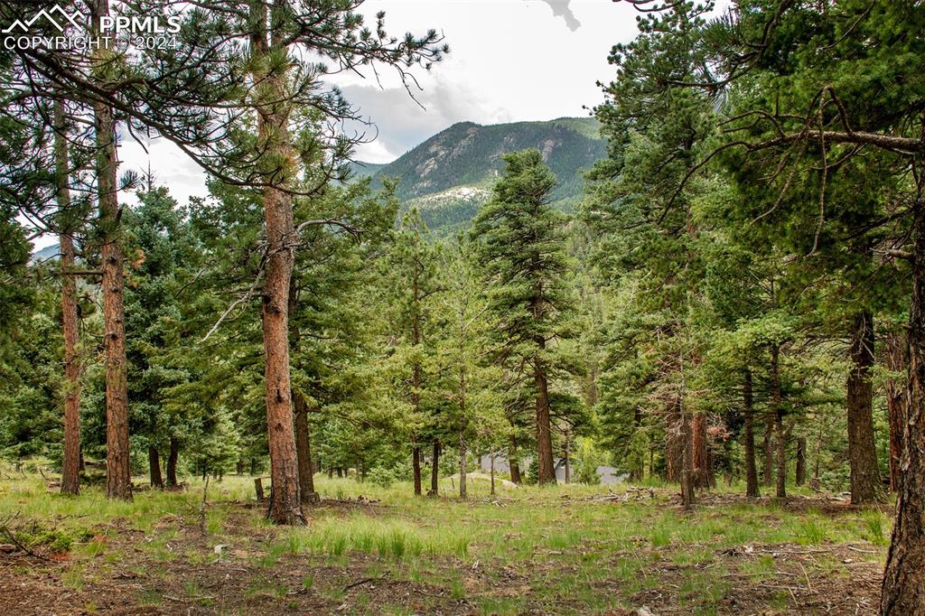
[[459,122],[387,165],[355,163],[358,177],[399,178],[398,196],[417,207],[427,226],[449,233],[466,226],[491,193],[504,168],[501,154],[536,148],[559,180],[555,207],[569,211],[582,192],[581,171],[605,153],[593,117],[561,117],[546,122],[482,126]]

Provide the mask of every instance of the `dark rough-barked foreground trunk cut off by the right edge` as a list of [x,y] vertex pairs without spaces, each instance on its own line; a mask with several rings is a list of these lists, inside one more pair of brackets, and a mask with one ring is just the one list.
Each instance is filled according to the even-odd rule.
[[913,211],[907,421],[899,462],[903,476],[883,573],[883,616],[925,614],[925,201],[920,193]]

